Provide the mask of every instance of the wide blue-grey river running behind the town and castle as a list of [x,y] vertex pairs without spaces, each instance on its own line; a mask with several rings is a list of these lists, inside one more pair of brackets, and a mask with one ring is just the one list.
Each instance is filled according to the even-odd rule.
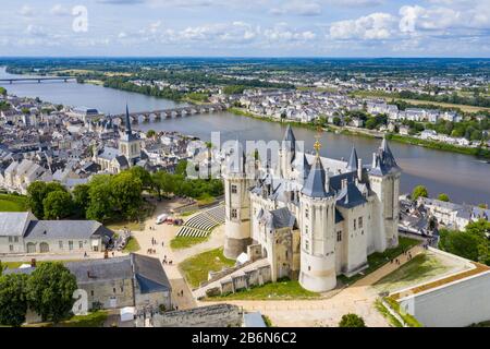
[[[1,77],[15,77],[0,69]],[[171,100],[140,94],[127,93],[102,86],[77,83],[14,83],[3,85],[10,94],[22,97],[39,97],[57,104],[97,108],[106,113],[120,113],[130,105],[131,111],[147,111],[179,106]],[[220,131],[221,142],[226,140],[256,141],[282,139],[285,125],[265,122],[229,112],[199,115],[186,118],[167,119],[161,122],[142,123],[143,131],[179,131],[210,141],[211,131]],[[316,133],[295,128],[297,140],[305,141],[307,149],[313,148]],[[321,155],[333,158],[348,158],[354,145],[357,154],[368,164],[380,140],[362,136],[323,133]],[[402,192],[408,193],[417,184],[428,188],[431,196],[449,194],[456,203],[490,204],[490,165],[475,157],[427,149],[419,146],[391,142],[390,147],[403,169]]]

